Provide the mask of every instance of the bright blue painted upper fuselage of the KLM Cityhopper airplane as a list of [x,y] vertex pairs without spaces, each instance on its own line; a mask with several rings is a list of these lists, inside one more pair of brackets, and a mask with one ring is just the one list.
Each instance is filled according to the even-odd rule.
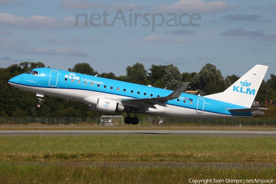
[[[57,69],[51,69],[51,68],[36,68],[33,70],[38,71],[39,74],[37,76],[31,75],[31,74],[21,74],[21,75],[18,75],[17,77],[14,77],[9,82],[18,83],[24,86],[32,86],[32,87],[88,90],[88,91],[94,91],[94,92],[101,92],[104,94],[120,95],[122,96],[122,98],[125,98],[125,97],[150,98],[151,97],[150,94],[153,94],[152,97],[157,97],[157,95],[162,97],[162,96],[167,96],[171,92],[173,92],[171,90],[164,90],[164,89],[144,86],[140,84],[133,84],[133,83],[117,81],[113,79],[105,79],[101,77],[95,77],[91,75],[79,74],[79,73],[74,73],[70,71],[63,71],[63,70],[57,70]],[[49,86],[51,70],[55,70],[59,72],[56,87]],[[67,79],[67,81],[65,81],[65,78]],[[15,81],[16,79],[19,80],[20,83],[16,82]],[[71,82],[72,79],[74,80],[74,82]],[[80,81],[80,83],[78,83],[78,81]],[[85,85],[84,82],[87,82],[87,84]],[[93,86],[91,86],[91,82],[94,84]],[[99,87],[97,86],[98,84],[100,85]],[[104,86],[106,86],[106,88],[104,88]],[[110,89],[110,86],[113,86],[113,89]],[[117,90],[117,88],[119,88],[119,90]],[[133,93],[131,93],[131,90],[133,90]],[[140,92],[140,94],[137,94],[138,91]],[[146,95],[144,95],[144,93],[146,93]],[[226,108],[228,109],[244,108],[243,106],[240,106],[240,105],[221,102],[218,100],[209,99],[209,98],[205,98],[205,97],[197,96],[193,94],[186,94],[186,93],[182,93],[180,98],[182,99],[179,99],[179,102],[177,102],[177,99],[174,99],[172,101],[170,100],[166,104],[183,107],[183,108],[189,108],[189,109],[197,109],[197,99],[204,98],[205,112],[225,114],[225,115],[235,115],[235,116],[241,116],[241,115],[251,116],[251,113],[232,113],[226,110]],[[186,100],[186,103],[184,103],[183,102],[184,98],[193,99],[193,103],[190,104],[189,100]]]

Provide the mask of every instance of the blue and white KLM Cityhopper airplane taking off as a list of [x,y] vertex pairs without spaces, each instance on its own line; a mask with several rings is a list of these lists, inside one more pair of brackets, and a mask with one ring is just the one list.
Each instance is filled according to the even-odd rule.
[[265,108],[251,105],[267,68],[256,65],[224,92],[206,96],[183,93],[190,82],[171,91],[53,68],[35,68],[8,83],[36,93],[40,97],[37,108],[41,107],[44,95],[48,95],[84,102],[92,111],[125,112],[125,123],[137,125],[136,113],[185,119],[263,116],[261,110]]

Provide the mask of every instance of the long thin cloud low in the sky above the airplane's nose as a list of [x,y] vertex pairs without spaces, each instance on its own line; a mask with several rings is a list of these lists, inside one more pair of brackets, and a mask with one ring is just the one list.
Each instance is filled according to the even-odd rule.
[[86,54],[82,50],[77,49],[67,49],[67,48],[60,48],[56,50],[51,50],[48,48],[35,48],[35,49],[18,49],[15,52],[21,54],[48,54],[48,55],[66,55],[66,56],[79,56],[79,57],[86,57]]

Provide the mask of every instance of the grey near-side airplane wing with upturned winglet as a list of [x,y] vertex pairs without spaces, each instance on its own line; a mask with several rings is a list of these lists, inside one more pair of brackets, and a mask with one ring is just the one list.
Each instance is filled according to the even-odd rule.
[[121,99],[121,102],[123,103],[123,105],[124,103],[135,103],[135,104],[141,104],[141,105],[147,103],[151,105],[157,104],[157,105],[166,106],[165,102],[168,102],[169,100],[173,100],[175,98],[179,98],[180,95],[183,93],[183,91],[186,89],[186,87],[189,85],[189,83],[190,82],[186,82],[185,84],[177,88],[174,92],[172,92],[166,97],[125,98],[125,99]]

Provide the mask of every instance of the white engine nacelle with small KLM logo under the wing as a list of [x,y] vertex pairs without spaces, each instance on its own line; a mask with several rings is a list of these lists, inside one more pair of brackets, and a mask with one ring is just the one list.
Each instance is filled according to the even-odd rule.
[[104,113],[123,112],[124,106],[120,102],[108,98],[98,98],[97,110]]

